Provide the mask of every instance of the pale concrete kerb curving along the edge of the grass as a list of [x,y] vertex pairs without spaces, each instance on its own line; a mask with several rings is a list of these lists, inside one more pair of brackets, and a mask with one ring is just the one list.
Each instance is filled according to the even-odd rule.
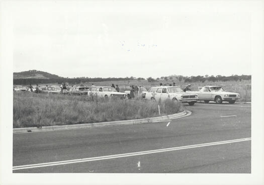
[[65,125],[65,126],[47,126],[47,127],[30,127],[30,128],[17,128],[13,129],[13,133],[29,133],[29,132],[46,132],[46,131],[59,131],[59,130],[69,130],[69,129],[85,129],[85,128],[95,128],[95,127],[110,127],[118,125],[133,125],[133,124],[144,124],[152,121],[163,121],[169,119],[180,118],[184,116],[191,115],[191,111],[185,110],[180,113],[163,115],[159,117],[148,117],[141,119],[130,119],[122,121],[109,121],[109,122],[96,122],[92,124],[76,124],[76,125]]

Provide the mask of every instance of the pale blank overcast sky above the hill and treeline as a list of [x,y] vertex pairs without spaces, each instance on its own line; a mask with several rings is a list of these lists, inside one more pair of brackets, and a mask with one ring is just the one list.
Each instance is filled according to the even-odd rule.
[[171,2],[18,3],[14,72],[103,78],[251,75],[250,14],[177,10]]

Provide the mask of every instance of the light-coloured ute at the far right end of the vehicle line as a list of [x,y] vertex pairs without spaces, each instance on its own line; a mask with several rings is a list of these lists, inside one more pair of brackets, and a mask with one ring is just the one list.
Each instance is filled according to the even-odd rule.
[[216,103],[227,101],[232,104],[240,98],[238,93],[226,92],[221,86],[204,86],[199,87],[199,91],[187,92],[197,93],[199,100],[203,100],[205,103],[209,101],[215,101]]

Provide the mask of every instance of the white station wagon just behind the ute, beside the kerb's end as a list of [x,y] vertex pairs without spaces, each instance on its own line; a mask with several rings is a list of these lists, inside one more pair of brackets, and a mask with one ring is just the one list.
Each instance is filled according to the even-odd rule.
[[183,103],[189,103],[194,105],[198,100],[198,95],[195,93],[186,93],[180,87],[177,86],[158,86],[151,87],[146,93],[146,99],[148,100],[161,100],[171,99],[174,101],[181,101]]

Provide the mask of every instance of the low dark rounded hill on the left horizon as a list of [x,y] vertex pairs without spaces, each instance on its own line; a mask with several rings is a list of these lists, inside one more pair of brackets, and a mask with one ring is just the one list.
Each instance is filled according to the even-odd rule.
[[13,73],[14,79],[60,79],[58,75],[53,75],[43,71],[29,70],[19,73]]

